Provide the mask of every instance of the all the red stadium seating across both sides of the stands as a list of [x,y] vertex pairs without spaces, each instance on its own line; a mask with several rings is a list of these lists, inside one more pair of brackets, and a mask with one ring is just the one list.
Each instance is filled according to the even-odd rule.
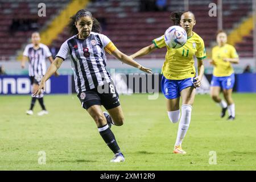
[[[47,16],[39,18],[37,14],[39,0],[2,0],[0,4],[0,60],[14,59],[18,53],[17,50],[21,51],[28,43],[32,32],[31,30],[16,30],[15,27],[11,29],[13,19],[36,20],[35,26],[42,30],[68,2],[69,0],[57,2],[44,0],[47,5]],[[164,30],[173,25],[170,12],[184,10],[184,1],[171,0],[167,1],[167,11],[141,12],[140,2],[140,0],[94,0],[86,7],[100,20],[102,33],[109,36],[115,45],[127,55],[150,45],[152,39],[163,35]],[[217,3],[217,0],[189,1],[189,10],[196,16],[197,24],[194,31],[204,39],[207,49],[213,46],[217,30],[217,18],[208,15],[210,9],[208,5],[212,2]],[[229,32],[250,15],[251,0],[223,1],[223,10],[223,27]],[[26,30],[26,27],[23,28]],[[66,27],[49,46],[58,49],[69,36],[71,35]],[[236,47],[241,57],[253,55],[252,35],[245,36],[241,43],[236,44]],[[165,52],[165,49],[159,49],[144,58],[163,59]]]

